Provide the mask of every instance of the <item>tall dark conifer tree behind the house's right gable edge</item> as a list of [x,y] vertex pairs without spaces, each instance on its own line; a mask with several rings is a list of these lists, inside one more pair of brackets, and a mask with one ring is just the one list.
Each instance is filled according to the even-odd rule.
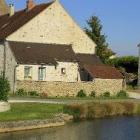
[[92,16],[87,24],[88,27],[85,28],[85,32],[96,43],[96,54],[105,63],[114,53],[108,48],[106,36],[102,34],[101,22],[97,16]]

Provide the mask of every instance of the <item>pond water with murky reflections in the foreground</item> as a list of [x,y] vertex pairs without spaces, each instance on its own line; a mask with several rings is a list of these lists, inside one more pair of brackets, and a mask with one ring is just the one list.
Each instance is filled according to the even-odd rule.
[[140,140],[140,117],[102,119],[0,134],[0,140]]

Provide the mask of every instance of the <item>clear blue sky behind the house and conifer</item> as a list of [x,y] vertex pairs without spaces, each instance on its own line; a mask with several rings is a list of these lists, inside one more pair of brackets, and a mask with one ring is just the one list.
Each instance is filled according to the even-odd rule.
[[[7,0],[16,9],[25,8],[26,0]],[[36,3],[48,0],[35,0]],[[81,27],[96,15],[103,24],[103,32],[118,55],[137,55],[140,43],[140,0],[60,0]]]

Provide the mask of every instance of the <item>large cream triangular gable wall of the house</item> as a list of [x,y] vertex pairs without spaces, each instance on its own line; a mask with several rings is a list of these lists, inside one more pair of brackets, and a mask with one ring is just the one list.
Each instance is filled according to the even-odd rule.
[[7,40],[72,44],[76,53],[86,54],[95,54],[96,46],[57,1],[7,37]]

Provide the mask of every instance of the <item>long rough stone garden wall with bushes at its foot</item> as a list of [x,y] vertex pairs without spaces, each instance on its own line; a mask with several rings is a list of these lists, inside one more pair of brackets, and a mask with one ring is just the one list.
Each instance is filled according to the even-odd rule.
[[45,93],[48,96],[76,96],[81,89],[85,90],[87,95],[92,91],[97,94],[109,91],[112,95],[123,89],[122,79],[96,79],[93,82],[33,82],[17,81],[17,89],[23,88],[26,91],[37,91]]

